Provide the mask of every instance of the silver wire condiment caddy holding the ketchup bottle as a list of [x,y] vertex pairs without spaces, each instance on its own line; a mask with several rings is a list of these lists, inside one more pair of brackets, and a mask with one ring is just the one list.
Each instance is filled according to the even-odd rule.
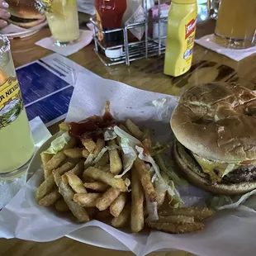
[[[149,18],[149,14],[147,11],[147,1],[144,0],[145,4],[145,12],[144,12],[144,21],[136,22],[136,23],[128,23],[126,26],[122,28],[117,28],[113,30],[103,31],[98,25],[96,21],[96,17],[92,17],[91,21],[93,24],[93,38],[95,42],[94,51],[97,56],[102,60],[102,63],[105,66],[111,66],[115,64],[125,63],[126,65],[130,65],[131,61],[136,59],[146,59],[156,55],[162,55],[165,52],[165,45],[162,44],[162,40],[166,38],[166,36],[161,35],[161,22],[167,22],[167,17],[161,17],[160,10],[160,0],[158,0],[159,13],[156,18]],[[158,36],[156,38],[152,38],[149,36],[149,25],[156,23],[158,25]],[[145,36],[143,40],[138,41],[129,41],[128,31],[138,26],[145,27]],[[121,45],[115,45],[111,47],[107,47],[106,45],[102,45],[101,41],[98,39],[98,32],[102,32],[102,35],[105,36],[108,33],[113,33],[116,31],[122,31],[123,41],[124,43]],[[105,55],[105,50],[114,50],[122,48],[123,54],[119,58],[107,58]]]

